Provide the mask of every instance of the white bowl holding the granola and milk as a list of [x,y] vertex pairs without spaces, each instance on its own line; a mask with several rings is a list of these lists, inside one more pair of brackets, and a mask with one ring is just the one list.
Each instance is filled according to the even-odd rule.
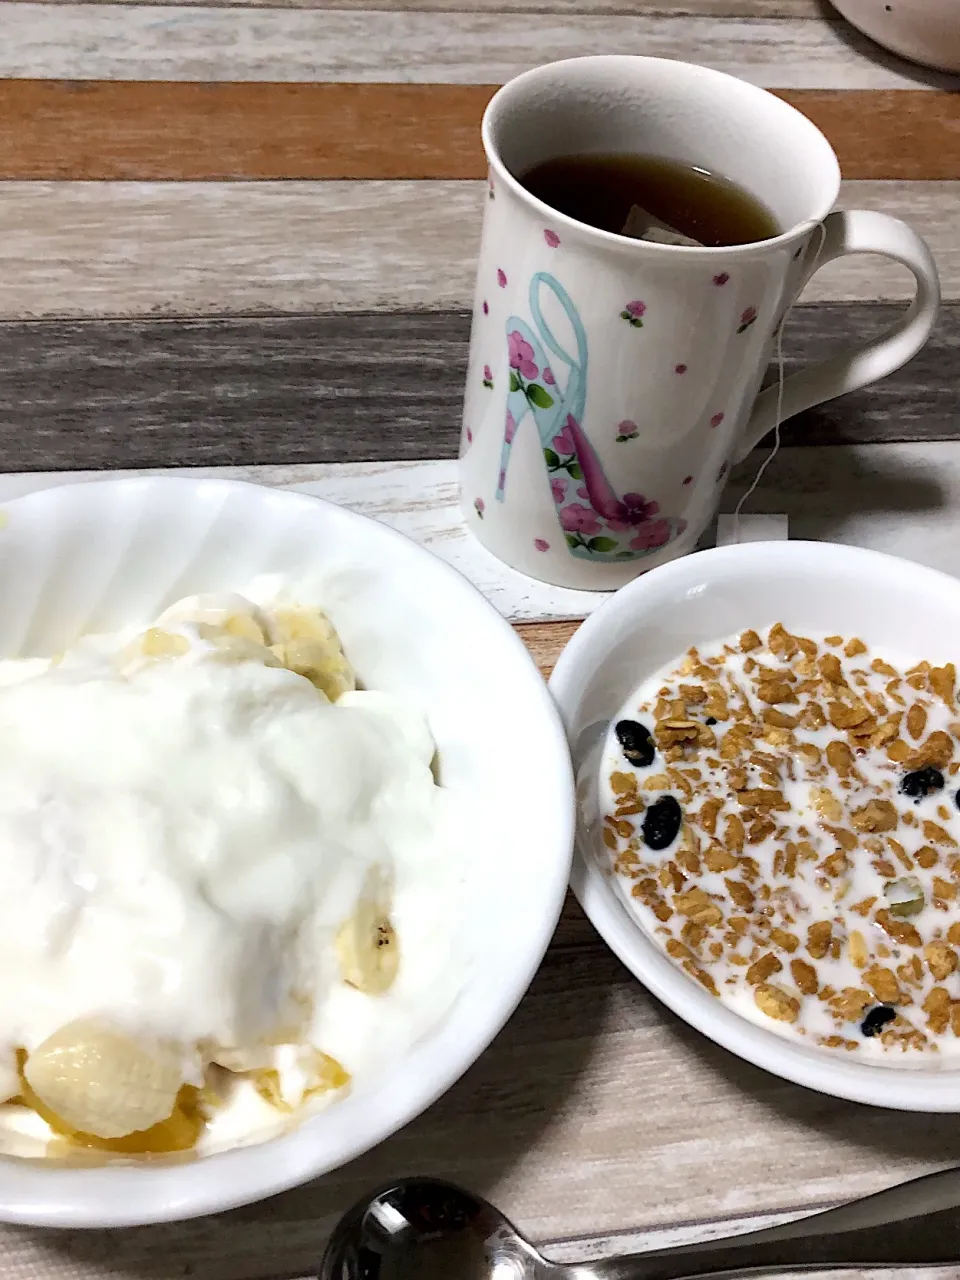
[[550,680],[577,773],[573,892],[628,969],[704,1036],[787,1080],[905,1111],[960,1111],[960,1069],[851,1062],[755,1025],[689,978],[628,909],[595,812],[599,749],[611,718],[658,668],[748,627],[859,635],[882,649],[955,662],[960,581],[892,556],[828,543],[745,543],[652,570],[576,632]]

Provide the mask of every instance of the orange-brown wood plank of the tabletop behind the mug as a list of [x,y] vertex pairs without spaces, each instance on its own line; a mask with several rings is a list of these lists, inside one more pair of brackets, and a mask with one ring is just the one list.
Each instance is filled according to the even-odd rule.
[[[110,10],[116,12],[116,10]],[[481,178],[489,84],[0,81],[0,179]],[[849,179],[960,178],[960,93],[783,90]]]

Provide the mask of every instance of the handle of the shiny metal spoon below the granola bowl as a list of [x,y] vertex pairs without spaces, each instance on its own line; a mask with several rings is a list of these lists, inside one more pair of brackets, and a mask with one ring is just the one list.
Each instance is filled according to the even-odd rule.
[[576,1280],[692,1280],[751,1271],[960,1263],[960,1169],[724,1240],[572,1267]]

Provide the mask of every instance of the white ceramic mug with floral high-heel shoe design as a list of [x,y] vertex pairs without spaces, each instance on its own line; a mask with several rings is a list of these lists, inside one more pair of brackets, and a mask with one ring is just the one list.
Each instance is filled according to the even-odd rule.
[[[916,294],[879,338],[787,378],[783,417],[899,369],[933,326],[927,244],[886,214],[831,212],[829,143],[744,81],[658,58],[552,63],[494,96],[483,140],[461,502],[480,541],[534,577],[607,590],[694,548],[730,466],[774,422],[777,388],[760,383],[819,266],[881,253]],[[515,177],[591,152],[719,173],[785,230],[728,248],[649,243],[577,223]]]

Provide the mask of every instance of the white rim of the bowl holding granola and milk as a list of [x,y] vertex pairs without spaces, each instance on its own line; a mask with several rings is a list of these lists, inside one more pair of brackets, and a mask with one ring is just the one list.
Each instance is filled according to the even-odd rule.
[[[643,599],[650,593],[652,584],[663,584],[668,577],[678,581],[691,575],[703,577],[710,564],[741,562],[742,572],[749,573],[750,564],[760,559],[776,559],[778,568],[785,572],[790,571],[790,559],[814,568],[819,563],[833,577],[844,568],[859,567],[870,576],[882,573],[888,586],[899,575],[908,573],[914,586],[919,579],[922,588],[925,582],[931,591],[952,595],[960,612],[960,580],[886,552],[803,540],[739,543],[695,552],[653,568],[621,588],[575,632],[549,681],[550,692],[557,699],[564,722],[568,718],[572,685],[594,635],[611,627],[621,617],[635,614],[640,618]],[[721,1004],[669,960],[626,904],[620,901],[595,858],[581,847],[579,832],[571,888],[594,928],[634,977],[678,1018],[737,1057],[794,1084],[850,1102],[897,1111],[960,1111],[960,1065],[956,1069],[931,1071],[923,1068],[850,1062],[832,1056],[827,1050],[795,1044]]]

